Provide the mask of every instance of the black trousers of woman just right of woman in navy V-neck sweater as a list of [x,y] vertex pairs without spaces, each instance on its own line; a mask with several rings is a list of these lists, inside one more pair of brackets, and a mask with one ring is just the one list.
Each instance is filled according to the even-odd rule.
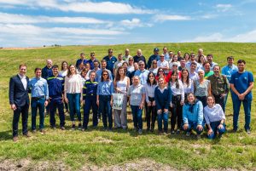
[[183,105],[180,105],[181,95],[172,96],[171,128],[174,129],[177,120],[177,128],[182,128]]

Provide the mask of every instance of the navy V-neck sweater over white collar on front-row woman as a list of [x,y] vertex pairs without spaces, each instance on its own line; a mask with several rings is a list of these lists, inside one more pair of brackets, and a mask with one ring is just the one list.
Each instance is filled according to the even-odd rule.
[[154,89],[154,100],[156,110],[168,109],[170,102],[172,101],[172,90],[170,87],[165,88],[164,92],[161,93],[159,87]]

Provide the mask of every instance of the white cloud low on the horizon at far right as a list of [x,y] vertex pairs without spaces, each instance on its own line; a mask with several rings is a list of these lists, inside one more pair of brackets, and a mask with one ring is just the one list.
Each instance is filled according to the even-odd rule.
[[256,29],[244,32],[234,37],[225,37],[222,33],[215,32],[210,35],[195,37],[184,42],[234,42],[234,43],[256,43]]

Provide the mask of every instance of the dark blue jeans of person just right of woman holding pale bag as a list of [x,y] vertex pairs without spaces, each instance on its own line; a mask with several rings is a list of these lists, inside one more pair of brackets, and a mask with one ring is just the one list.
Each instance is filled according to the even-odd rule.
[[131,113],[134,128],[143,129],[143,110],[139,108],[139,105],[131,105]]

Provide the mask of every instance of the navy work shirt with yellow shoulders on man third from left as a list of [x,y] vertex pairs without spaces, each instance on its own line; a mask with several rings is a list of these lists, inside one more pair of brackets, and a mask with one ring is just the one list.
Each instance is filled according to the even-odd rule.
[[49,97],[52,100],[61,100],[62,93],[64,90],[64,77],[54,75],[47,78],[48,88],[49,88]]

